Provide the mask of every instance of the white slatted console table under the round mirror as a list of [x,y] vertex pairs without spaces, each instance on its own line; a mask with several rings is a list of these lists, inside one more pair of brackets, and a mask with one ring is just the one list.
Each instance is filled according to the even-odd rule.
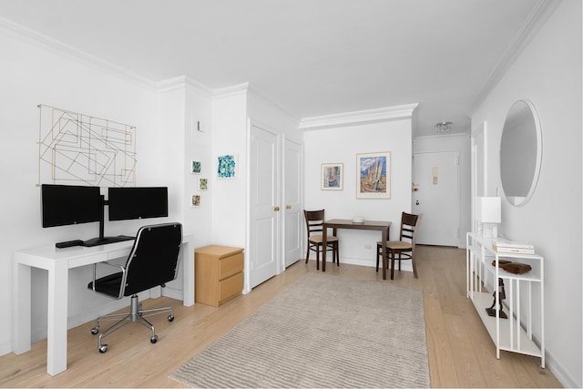
[[[474,302],[487,332],[496,344],[496,358],[500,359],[500,350],[524,353],[540,357],[541,366],[545,367],[545,293],[544,261],[537,254],[498,252],[493,248],[492,238],[480,237],[468,232],[466,236],[466,290],[467,298]],[[532,270],[523,274],[514,274],[498,267],[501,259],[519,261],[531,266]],[[495,261],[496,266],[492,265]],[[496,296],[498,306],[498,278],[505,282],[507,319],[489,316],[490,308]],[[485,285],[492,285],[493,291],[486,292]],[[533,303],[533,286],[539,288],[539,302]],[[526,289],[526,290],[525,290]],[[494,294],[494,295],[493,295]],[[540,334],[535,343],[533,339],[533,315],[539,315]]]

